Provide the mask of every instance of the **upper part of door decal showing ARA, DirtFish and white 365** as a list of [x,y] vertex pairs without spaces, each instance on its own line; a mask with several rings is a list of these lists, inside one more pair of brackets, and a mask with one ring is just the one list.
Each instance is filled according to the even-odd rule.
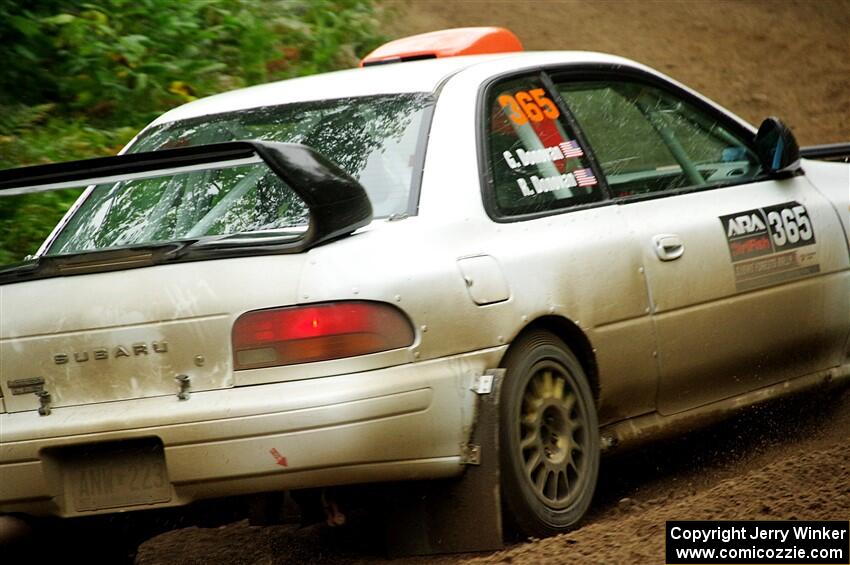
[[785,202],[720,216],[732,261],[815,243],[815,230],[806,207]]

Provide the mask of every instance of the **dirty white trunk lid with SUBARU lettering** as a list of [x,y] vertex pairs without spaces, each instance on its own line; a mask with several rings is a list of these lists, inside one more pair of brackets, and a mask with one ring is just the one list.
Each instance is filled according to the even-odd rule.
[[0,389],[9,412],[233,386],[231,327],[296,302],[304,255],[243,257],[0,287]]

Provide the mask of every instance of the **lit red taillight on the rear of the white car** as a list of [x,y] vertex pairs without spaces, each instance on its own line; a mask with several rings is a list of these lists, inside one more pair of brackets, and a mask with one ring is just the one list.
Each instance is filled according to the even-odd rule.
[[234,369],[340,359],[413,344],[397,308],[350,301],[257,310],[233,324]]

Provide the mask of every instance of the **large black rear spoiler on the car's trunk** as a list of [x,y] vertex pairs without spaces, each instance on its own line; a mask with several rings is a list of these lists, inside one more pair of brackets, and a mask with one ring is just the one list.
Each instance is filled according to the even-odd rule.
[[[310,210],[310,226],[303,237],[264,245],[263,252],[297,253],[350,234],[372,221],[372,205],[360,183],[321,153],[300,143],[233,141],[7,169],[0,171],[0,196],[261,162]],[[245,246],[240,248],[244,250]]]

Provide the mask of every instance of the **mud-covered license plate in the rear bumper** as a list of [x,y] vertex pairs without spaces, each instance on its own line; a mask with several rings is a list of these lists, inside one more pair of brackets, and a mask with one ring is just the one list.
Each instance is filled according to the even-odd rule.
[[92,450],[66,460],[63,475],[77,511],[171,500],[161,445]]

